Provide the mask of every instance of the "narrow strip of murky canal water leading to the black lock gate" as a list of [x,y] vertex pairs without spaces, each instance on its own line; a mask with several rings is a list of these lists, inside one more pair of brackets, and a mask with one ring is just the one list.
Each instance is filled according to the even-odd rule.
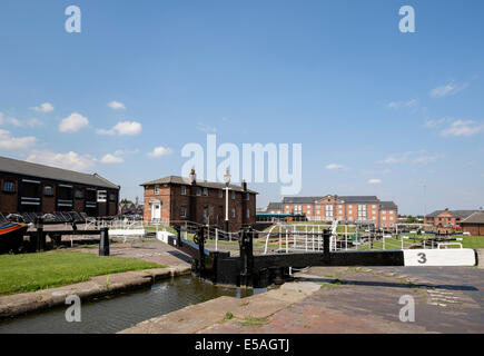
[[219,287],[192,276],[161,281],[150,289],[102,298],[81,305],[81,322],[66,322],[59,307],[38,314],[0,320],[0,334],[111,334],[140,322],[220,296],[244,298],[265,289]]

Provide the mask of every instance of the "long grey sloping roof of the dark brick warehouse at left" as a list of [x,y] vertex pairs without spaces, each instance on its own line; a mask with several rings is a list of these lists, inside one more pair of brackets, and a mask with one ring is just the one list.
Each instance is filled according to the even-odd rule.
[[87,186],[119,189],[119,186],[99,176],[98,174],[81,174],[79,171],[49,167],[1,156],[0,171],[34,178],[53,179],[73,184],[82,184]]

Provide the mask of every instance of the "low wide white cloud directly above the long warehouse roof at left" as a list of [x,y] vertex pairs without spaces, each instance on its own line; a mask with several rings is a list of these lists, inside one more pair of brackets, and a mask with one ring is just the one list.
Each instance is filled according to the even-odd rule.
[[77,152],[58,154],[49,150],[33,150],[27,157],[33,164],[52,166],[70,170],[87,171],[96,166],[96,159]]

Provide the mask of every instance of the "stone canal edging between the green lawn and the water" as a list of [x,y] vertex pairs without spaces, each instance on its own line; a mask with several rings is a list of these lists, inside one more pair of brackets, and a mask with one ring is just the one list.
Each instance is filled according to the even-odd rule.
[[95,276],[88,281],[73,285],[8,295],[0,297],[0,319],[66,305],[66,298],[70,295],[77,295],[81,300],[90,300],[147,288],[157,281],[188,274],[191,274],[190,267],[179,266],[131,270]]

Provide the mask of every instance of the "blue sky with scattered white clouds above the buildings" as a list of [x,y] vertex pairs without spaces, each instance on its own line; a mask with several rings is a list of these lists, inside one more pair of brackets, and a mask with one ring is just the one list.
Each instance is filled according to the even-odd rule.
[[[70,4],[81,33],[65,30]],[[398,30],[405,4],[415,33]],[[482,13],[482,1],[2,0],[0,155],[96,171],[134,199],[216,132],[303,144],[300,195],[478,208]],[[278,184],[250,186],[258,206],[280,199]]]

